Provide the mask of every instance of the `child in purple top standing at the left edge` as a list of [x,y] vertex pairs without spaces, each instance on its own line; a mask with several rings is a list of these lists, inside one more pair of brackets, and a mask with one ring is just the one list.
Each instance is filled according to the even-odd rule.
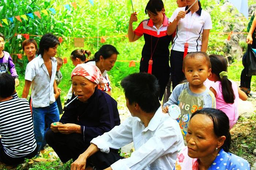
[[[9,70],[12,77],[15,79],[15,87],[17,87],[19,86],[18,74],[16,72],[11,55],[8,52],[4,51],[4,40],[4,35],[0,33],[0,74],[7,73]],[[18,98],[16,90],[14,90],[12,97]]]

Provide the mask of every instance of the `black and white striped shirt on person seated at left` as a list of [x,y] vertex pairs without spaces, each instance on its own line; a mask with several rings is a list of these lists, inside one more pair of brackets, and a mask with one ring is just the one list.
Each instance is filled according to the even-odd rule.
[[30,154],[37,144],[27,99],[0,102],[1,143],[7,155],[18,158]]

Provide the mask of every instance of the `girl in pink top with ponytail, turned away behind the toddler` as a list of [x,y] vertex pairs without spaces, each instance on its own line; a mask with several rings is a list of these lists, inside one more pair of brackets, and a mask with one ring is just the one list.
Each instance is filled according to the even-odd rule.
[[209,56],[212,69],[208,79],[214,81],[210,90],[216,98],[216,109],[222,110],[229,117],[229,128],[236,124],[238,119],[238,98],[247,99],[245,92],[237,84],[227,78],[227,60],[223,56],[212,54]]

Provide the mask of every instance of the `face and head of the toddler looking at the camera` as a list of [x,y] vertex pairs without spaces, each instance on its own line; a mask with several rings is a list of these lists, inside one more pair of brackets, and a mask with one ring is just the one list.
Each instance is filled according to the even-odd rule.
[[207,60],[203,56],[189,57],[185,61],[184,74],[192,85],[202,84],[210,75]]

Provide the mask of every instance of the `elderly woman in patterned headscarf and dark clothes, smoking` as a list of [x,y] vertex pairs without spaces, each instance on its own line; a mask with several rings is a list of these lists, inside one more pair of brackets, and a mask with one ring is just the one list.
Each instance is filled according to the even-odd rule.
[[91,64],[78,64],[71,73],[76,98],[59,122],[51,124],[46,141],[62,162],[76,160],[90,141],[120,124],[117,102],[97,85],[106,83],[101,71]]

